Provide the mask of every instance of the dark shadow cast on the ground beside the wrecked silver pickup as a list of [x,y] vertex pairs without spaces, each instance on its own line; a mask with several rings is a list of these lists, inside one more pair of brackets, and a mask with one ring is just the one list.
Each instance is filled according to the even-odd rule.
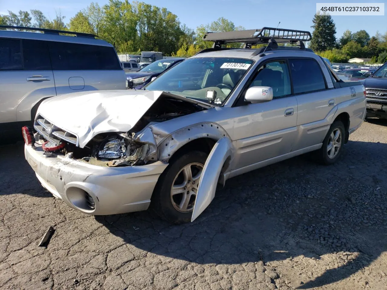
[[[387,181],[378,178],[387,169],[374,154],[387,152],[387,144],[350,141],[346,147],[335,165],[318,165],[303,155],[229,179],[193,223],[171,225],[149,211],[95,218],[129,247],[190,263],[268,263],[298,256],[316,261],[351,252],[353,259],[299,288],[321,287],[387,251],[387,234],[380,229],[386,224]],[[380,165],[370,172],[368,164]]]

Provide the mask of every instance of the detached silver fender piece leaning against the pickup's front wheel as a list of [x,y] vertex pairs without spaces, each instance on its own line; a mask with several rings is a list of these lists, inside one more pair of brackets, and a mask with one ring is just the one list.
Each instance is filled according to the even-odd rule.
[[[212,147],[212,150],[205,161],[202,176],[200,177],[191,222],[193,222],[214,199],[217,181],[223,165],[229,157],[233,157],[233,154],[234,147],[228,137],[220,138],[215,143],[214,147]],[[227,164],[230,164],[230,162]],[[224,170],[227,170],[227,168]]]

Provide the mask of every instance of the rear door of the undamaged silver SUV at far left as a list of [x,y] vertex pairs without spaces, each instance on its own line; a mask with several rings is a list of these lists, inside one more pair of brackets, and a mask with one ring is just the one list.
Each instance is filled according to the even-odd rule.
[[55,95],[47,43],[0,39],[0,123],[31,120],[31,108]]

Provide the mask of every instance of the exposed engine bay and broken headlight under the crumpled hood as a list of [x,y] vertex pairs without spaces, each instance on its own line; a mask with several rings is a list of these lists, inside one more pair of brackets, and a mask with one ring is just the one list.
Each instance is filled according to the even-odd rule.
[[67,143],[60,150],[72,153],[72,158],[99,166],[144,165],[157,161],[154,143],[141,141],[137,133],[148,125],[192,114],[206,109],[195,102],[160,97],[128,132],[101,133],[94,136],[84,148]]

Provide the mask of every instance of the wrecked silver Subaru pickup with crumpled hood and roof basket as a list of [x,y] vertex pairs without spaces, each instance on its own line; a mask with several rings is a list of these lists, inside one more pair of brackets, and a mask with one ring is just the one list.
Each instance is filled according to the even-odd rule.
[[[273,31],[208,33],[214,48],[144,90],[44,101],[36,133],[23,129],[26,160],[76,210],[110,215],[151,206],[176,223],[197,218],[230,177],[311,151],[323,164],[336,162],[365,117],[365,89],[340,80],[301,41],[274,41],[293,43],[300,33],[309,40],[310,32],[279,29],[271,39]],[[229,42],[245,48],[222,47]],[[267,46],[249,48],[257,43]]]

